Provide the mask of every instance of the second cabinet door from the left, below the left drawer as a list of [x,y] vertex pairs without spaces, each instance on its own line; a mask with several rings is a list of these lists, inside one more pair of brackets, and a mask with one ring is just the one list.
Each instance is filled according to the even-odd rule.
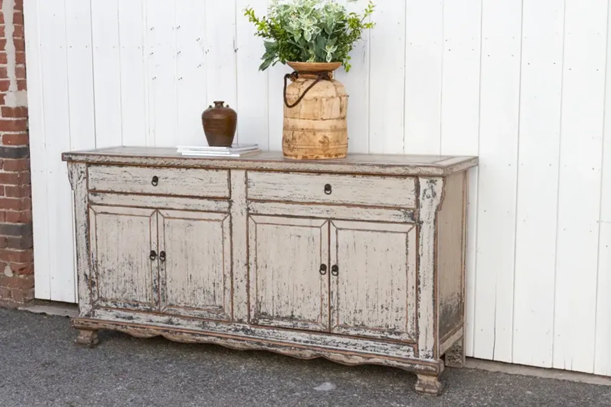
[[161,312],[231,319],[231,233],[226,213],[159,210]]

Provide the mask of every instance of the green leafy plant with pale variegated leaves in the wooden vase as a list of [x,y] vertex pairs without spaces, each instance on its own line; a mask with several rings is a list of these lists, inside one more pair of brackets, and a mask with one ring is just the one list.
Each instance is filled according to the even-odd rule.
[[362,15],[348,13],[335,0],[273,0],[268,14],[258,18],[252,7],[246,7],[244,15],[265,39],[259,70],[287,61],[342,62],[348,72],[349,52],[363,30],[375,25],[367,21],[374,9],[371,0]]

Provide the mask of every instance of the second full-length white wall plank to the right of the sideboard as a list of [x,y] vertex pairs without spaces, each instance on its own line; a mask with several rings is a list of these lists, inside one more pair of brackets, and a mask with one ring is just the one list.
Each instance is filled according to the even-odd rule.
[[524,0],[522,18],[512,355],[514,363],[546,367],[554,341],[564,3]]

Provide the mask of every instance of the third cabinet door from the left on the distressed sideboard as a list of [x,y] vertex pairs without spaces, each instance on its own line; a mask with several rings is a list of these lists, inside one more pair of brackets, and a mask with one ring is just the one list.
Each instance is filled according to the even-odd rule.
[[251,324],[328,331],[329,222],[251,216],[248,238]]

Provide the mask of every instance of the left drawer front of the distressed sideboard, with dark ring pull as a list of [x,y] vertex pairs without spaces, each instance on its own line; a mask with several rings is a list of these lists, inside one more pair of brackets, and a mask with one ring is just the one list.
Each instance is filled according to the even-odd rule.
[[229,171],[95,165],[89,189],[135,194],[229,198]]

